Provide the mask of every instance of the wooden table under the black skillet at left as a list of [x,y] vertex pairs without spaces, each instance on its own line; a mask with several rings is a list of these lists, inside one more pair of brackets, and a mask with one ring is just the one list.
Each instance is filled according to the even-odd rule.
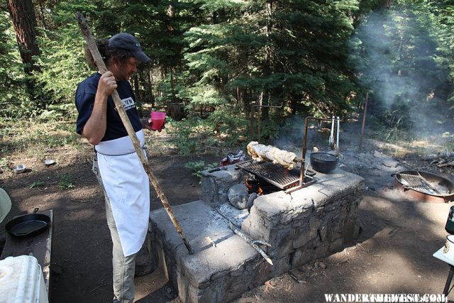
[[17,257],[19,255],[33,255],[38,260],[41,269],[45,287],[49,295],[50,290],[50,253],[52,250],[52,232],[53,232],[53,211],[38,211],[36,214],[45,214],[50,217],[50,226],[36,236],[30,238],[16,238],[8,235],[0,260],[6,257]]

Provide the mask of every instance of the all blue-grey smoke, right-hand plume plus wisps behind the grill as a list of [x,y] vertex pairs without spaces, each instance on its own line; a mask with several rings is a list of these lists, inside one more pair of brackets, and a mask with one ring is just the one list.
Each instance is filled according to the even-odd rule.
[[[401,123],[399,127],[411,132],[413,138],[449,131],[440,89],[448,83],[448,69],[435,60],[440,55],[440,42],[433,35],[436,23],[421,16],[421,12],[414,14],[409,8],[370,13],[349,41],[350,65],[360,85],[370,92],[369,116],[380,116],[382,123],[392,127]],[[343,127],[341,123],[341,131]],[[272,144],[299,154],[303,128],[304,117],[290,116]],[[314,146],[326,151],[328,136],[329,131],[309,129],[308,151]]]

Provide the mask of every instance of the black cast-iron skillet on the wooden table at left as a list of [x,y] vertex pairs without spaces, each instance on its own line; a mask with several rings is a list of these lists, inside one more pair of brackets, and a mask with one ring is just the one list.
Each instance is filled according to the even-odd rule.
[[5,225],[6,231],[16,238],[25,238],[38,235],[45,231],[50,225],[50,216],[45,214],[25,214],[16,216]]

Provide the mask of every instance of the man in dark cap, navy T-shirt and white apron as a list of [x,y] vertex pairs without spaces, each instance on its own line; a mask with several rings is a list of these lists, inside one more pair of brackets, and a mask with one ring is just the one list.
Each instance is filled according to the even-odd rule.
[[[104,191],[106,218],[111,231],[114,302],[133,302],[135,256],[145,241],[150,212],[148,175],[135,153],[131,138],[111,98],[117,90],[140,145],[143,127],[128,80],[140,62],[150,58],[131,34],[118,33],[97,43],[108,72],[91,75],[76,91],[77,133],[94,145],[93,172]],[[87,55],[89,53],[86,50]],[[89,55],[89,61],[93,58]],[[152,121],[153,122],[153,121]],[[143,150],[145,153],[145,150]]]

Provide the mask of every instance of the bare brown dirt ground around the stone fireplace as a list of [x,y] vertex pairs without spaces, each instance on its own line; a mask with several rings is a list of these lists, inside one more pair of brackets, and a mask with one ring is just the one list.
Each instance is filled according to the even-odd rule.
[[[354,135],[354,136],[353,136]],[[444,230],[452,203],[426,203],[394,187],[392,172],[407,168],[451,178],[419,155],[391,158],[381,153],[379,141],[365,141],[357,153],[358,133],[343,134],[341,168],[365,178],[366,191],[358,217],[362,232],[356,243],[328,258],[314,260],[294,271],[257,285],[236,302],[326,302],[324,294],[440,294],[449,266],[432,254],[445,242]],[[153,134],[159,141],[162,134]],[[350,142],[345,142],[350,138]],[[348,146],[347,143],[352,145]],[[157,143],[159,144],[159,143]],[[349,150],[349,151],[347,151]],[[104,198],[91,172],[91,151],[57,150],[57,165],[45,167],[42,159],[22,160],[25,173],[0,174],[0,187],[13,206],[0,224],[13,216],[40,210],[54,211],[50,302],[111,302],[111,240],[104,214]],[[150,164],[170,204],[199,199],[199,179],[184,167],[188,161],[221,160],[215,156],[179,157],[172,153],[150,156]],[[62,177],[72,176],[73,188],[62,190]],[[32,184],[42,182],[40,186]],[[152,194],[152,209],[161,206]],[[136,302],[179,302],[162,272],[136,278]],[[454,300],[454,294],[448,296]]]

